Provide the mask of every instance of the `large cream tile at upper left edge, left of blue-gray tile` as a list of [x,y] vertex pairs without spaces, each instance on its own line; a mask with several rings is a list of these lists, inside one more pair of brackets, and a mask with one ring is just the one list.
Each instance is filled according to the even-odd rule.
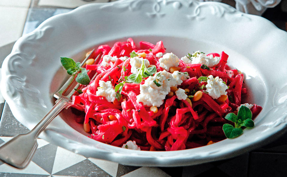
[[21,37],[28,7],[0,6],[0,46]]

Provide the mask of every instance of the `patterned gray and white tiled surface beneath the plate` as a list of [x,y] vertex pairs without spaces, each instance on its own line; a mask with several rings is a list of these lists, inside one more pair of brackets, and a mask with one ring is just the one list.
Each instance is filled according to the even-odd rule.
[[[88,1],[88,0],[87,0]],[[100,2],[104,0],[94,0],[91,2]],[[0,35],[0,46],[13,42],[22,35],[35,29],[42,21],[58,13],[68,12],[71,9],[87,3],[82,0],[29,0],[22,1],[0,1],[0,22],[15,26],[7,27],[8,30],[14,30],[11,33],[5,32]],[[31,5],[30,5],[31,4]],[[273,8],[268,9],[262,16],[274,22],[279,28],[286,30],[287,22],[287,0]],[[29,8],[29,6],[33,8]],[[63,7],[63,8],[58,8]],[[29,8],[29,10],[28,10]],[[27,13],[28,12],[28,13]],[[7,13],[7,14],[4,14]],[[4,14],[4,15],[2,15]],[[26,14],[28,18],[26,19]],[[19,21],[15,18],[22,16]],[[5,16],[5,17],[4,17]],[[26,19],[26,22],[25,22]],[[4,20],[4,21],[3,21]],[[10,22],[10,21],[15,22]],[[10,23],[11,24],[10,24]],[[19,27],[20,26],[20,27]],[[1,25],[2,27],[2,25]],[[13,29],[13,28],[15,29]],[[0,34],[4,30],[0,28]],[[13,35],[12,35],[13,33]],[[10,38],[7,37],[10,35]],[[11,37],[12,36],[12,37]],[[1,43],[2,42],[2,43]],[[1,48],[0,48],[1,51]],[[0,55],[1,56],[1,55]],[[0,58],[0,64],[3,58]],[[8,141],[12,136],[18,133],[28,132],[21,123],[12,115],[9,106],[5,104],[0,97],[0,144]],[[3,112],[2,112],[3,109]],[[38,139],[38,149],[32,162],[27,168],[19,170],[0,162],[0,176],[13,177],[63,177],[63,176],[182,176],[182,177],[201,177],[201,176],[230,176],[230,177],[257,177],[271,176],[281,177],[286,175],[287,162],[287,134],[280,139],[268,144],[267,146],[245,153],[236,158],[216,161],[188,167],[133,167],[117,164],[115,162],[103,161],[94,158],[86,158],[82,155],[69,152],[47,141]]]

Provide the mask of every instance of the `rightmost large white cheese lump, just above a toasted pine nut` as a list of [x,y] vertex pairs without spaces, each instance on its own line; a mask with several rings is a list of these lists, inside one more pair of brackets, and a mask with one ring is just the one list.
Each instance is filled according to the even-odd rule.
[[206,91],[213,99],[217,99],[221,95],[226,95],[226,89],[228,89],[228,87],[218,76],[213,78],[213,75],[209,75],[207,77]]

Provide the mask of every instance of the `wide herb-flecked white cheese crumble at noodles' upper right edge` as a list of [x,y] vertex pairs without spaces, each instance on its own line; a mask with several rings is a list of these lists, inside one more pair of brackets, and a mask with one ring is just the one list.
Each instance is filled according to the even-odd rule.
[[213,67],[217,65],[220,61],[220,57],[213,57],[213,55],[206,56],[206,54],[201,53],[200,51],[196,51],[191,55],[194,56],[191,57],[192,64],[204,64],[208,67]]

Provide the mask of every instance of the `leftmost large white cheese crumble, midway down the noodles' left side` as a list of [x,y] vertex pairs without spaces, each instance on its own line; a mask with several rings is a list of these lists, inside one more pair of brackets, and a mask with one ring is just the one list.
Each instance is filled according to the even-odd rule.
[[99,81],[99,87],[96,91],[97,96],[105,97],[107,101],[113,102],[116,99],[116,92],[111,81]]

